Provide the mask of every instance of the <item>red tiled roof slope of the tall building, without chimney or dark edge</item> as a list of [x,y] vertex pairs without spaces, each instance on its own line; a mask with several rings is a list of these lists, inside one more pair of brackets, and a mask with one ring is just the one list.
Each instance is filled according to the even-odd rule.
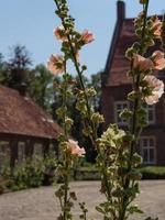
[[123,20],[116,37],[114,50],[111,52],[112,57],[109,61],[109,68],[107,69],[106,86],[118,86],[130,82],[127,76],[127,72],[130,69],[130,62],[125,58],[125,51],[136,40],[133,19]]

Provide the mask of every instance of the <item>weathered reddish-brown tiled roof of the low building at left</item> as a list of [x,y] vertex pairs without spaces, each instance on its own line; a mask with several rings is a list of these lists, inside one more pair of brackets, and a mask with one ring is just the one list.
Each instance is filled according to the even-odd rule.
[[62,128],[16,90],[0,86],[0,133],[56,139]]

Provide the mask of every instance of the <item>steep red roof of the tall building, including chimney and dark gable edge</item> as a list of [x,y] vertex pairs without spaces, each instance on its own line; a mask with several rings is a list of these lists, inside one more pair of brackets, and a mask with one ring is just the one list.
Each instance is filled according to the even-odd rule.
[[[125,51],[135,42],[138,37],[135,35],[134,19],[125,18],[125,4],[123,1],[117,2],[117,24],[107,58],[105,76],[102,76],[103,86],[120,86],[130,84],[127,73],[130,70],[130,62],[125,58]],[[160,16],[161,18],[161,16]],[[160,42],[148,51],[152,54],[153,51],[158,47]],[[158,77],[165,77],[164,72],[156,72]]]

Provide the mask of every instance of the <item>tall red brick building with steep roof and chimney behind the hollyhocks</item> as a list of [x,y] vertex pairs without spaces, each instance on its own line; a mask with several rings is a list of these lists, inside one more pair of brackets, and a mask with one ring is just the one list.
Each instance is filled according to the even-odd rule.
[[[106,122],[117,122],[124,127],[124,121],[119,118],[119,112],[129,102],[127,95],[132,90],[127,77],[130,63],[124,57],[125,51],[136,40],[133,19],[125,18],[125,4],[117,3],[117,24],[109,51],[106,69],[102,74],[102,113]],[[157,42],[160,44],[160,42]],[[156,44],[156,45],[157,45]],[[155,48],[154,48],[155,50]],[[152,51],[151,51],[152,52]],[[165,72],[155,73],[165,82]],[[142,132],[138,152],[143,156],[144,165],[165,165],[165,96],[158,103],[146,106],[148,127]]]

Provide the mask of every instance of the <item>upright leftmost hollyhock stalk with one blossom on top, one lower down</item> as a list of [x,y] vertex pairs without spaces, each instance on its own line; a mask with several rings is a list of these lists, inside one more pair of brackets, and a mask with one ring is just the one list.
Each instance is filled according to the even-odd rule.
[[76,194],[70,191],[69,177],[73,167],[77,163],[78,158],[85,154],[85,150],[78,146],[78,143],[69,139],[70,128],[73,120],[67,116],[67,100],[73,96],[72,87],[75,84],[72,76],[67,74],[66,69],[67,58],[63,56],[52,55],[48,62],[48,68],[54,75],[62,75],[63,79],[61,85],[55,85],[57,92],[61,95],[62,107],[57,109],[58,119],[62,121],[64,133],[59,135],[59,146],[62,150],[62,162],[58,166],[58,175],[62,178],[63,184],[55,193],[59,199],[62,213],[59,220],[72,220],[72,208],[74,201],[77,200]]

